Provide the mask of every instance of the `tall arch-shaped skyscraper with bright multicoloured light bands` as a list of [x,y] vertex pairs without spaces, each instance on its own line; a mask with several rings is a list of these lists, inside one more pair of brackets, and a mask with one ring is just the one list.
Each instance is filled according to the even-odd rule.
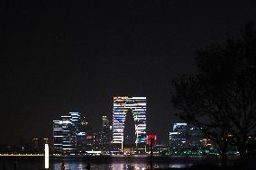
[[123,130],[127,112],[132,112],[135,124],[135,143],[146,143],[146,97],[114,97],[113,143],[123,150]]

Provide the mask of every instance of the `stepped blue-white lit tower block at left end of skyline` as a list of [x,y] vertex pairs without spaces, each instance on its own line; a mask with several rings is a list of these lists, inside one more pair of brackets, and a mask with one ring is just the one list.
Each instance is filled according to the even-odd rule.
[[77,154],[81,142],[86,140],[86,131],[81,130],[79,112],[69,112],[61,116],[60,121],[53,121],[54,151],[59,154]]

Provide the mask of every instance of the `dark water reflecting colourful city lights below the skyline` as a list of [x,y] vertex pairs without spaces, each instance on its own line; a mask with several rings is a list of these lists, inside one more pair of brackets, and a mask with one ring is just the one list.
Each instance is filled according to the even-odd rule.
[[[99,162],[99,160],[101,162]],[[97,159],[83,159],[83,160],[70,160],[70,159],[51,159],[50,170],[60,170],[62,161],[65,163],[66,170],[87,170],[87,163],[90,162],[91,170],[142,170],[150,167],[149,161],[137,157],[114,159],[113,161],[107,161],[105,158],[98,157]],[[97,162],[96,162],[97,161]],[[169,157],[167,159],[159,159],[153,164],[154,167],[159,168],[184,168],[202,163],[211,163],[217,165],[219,159],[216,157]],[[0,169],[4,170],[44,170],[43,159],[32,159],[32,160],[15,160],[15,159],[2,159],[0,160]]]

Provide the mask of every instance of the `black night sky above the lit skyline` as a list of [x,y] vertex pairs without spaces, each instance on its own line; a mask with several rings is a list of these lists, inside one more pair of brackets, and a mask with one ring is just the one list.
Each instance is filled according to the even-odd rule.
[[165,142],[171,79],[196,70],[198,48],[256,22],[255,0],[92,2],[0,5],[0,144],[50,137],[69,111],[96,130],[114,95],[146,96],[148,132]]

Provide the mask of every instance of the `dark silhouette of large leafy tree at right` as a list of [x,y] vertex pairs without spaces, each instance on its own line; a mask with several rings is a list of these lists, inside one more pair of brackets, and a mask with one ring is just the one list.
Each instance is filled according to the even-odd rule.
[[228,144],[248,152],[256,127],[256,30],[247,23],[238,39],[227,37],[197,52],[197,74],[172,81],[178,117],[202,128],[226,155]]

